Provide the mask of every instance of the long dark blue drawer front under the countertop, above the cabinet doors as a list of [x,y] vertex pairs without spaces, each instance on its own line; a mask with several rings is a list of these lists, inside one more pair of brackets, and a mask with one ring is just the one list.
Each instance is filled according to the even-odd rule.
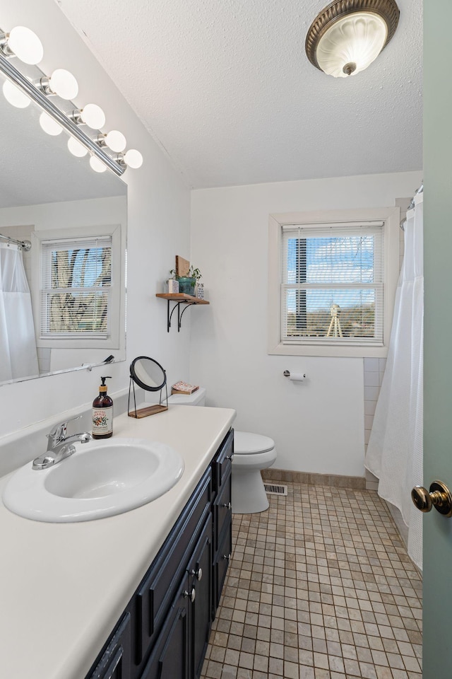
[[211,497],[212,474],[208,469],[145,576],[143,584],[138,588],[135,649],[137,665],[143,660],[145,649],[167,614],[182,571],[186,568],[184,555],[191,543],[198,538],[206,516],[210,513]]

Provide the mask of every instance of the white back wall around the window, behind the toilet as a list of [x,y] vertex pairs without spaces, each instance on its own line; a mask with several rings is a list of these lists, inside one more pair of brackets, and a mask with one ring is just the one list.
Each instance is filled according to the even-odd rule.
[[[267,354],[268,215],[392,207],[422,173],[282,182],[191,193],[191,261],[210,306],[191,309],[190,380],[237,429],[271,436],[275,467],[364,476],[363,359]],[[306,372],[291,383],[285,369]]]

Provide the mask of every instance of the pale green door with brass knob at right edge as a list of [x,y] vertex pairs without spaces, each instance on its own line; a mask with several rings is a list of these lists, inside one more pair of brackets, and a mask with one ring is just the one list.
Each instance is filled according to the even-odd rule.
[[[424,1],[424,486],[452,489],[452,25]],[[415,93],[411,93],[415,95]],[[410,97],[410,92],[407,93]],[[423,679],[452,675],[452,518],[424,516]]]

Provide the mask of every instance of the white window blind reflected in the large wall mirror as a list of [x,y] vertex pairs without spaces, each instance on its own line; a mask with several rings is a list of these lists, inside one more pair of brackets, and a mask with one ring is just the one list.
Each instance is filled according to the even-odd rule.
[[112,236],[41,241],[40,336],[110,336]]

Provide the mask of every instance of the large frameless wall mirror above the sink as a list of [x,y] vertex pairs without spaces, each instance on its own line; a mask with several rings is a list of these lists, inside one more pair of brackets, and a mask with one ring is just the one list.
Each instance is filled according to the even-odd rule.
[[126,357],[126,185],[41,113],[0,92],[0,384]]

